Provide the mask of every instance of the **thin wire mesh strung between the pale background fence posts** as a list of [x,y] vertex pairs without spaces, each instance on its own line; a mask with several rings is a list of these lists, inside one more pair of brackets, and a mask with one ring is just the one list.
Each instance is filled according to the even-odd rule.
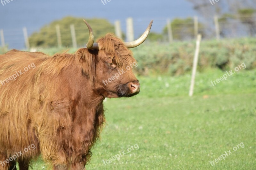
[[[183,24],[172,24],[172,37],[173,41],[187,41],[195,39],[196,31],[195,31],[195,22],[194,17],[190,22],[183,23]],[[154,41],[158,42],[170,42],[168,37],[168,33],[166,32],[167,28],[167,19],[168,18],[156,18],[154,20],[154,24],[151,30],[152,33],[156,33],[156,37]],[[133,29],[134,29],[134,37],[138,38],[144,31],[150,19],[140,19],[140,18],[133,18]],[[72,23],[70,23],[72,24]],[[219,32],[220,38],[240,38],[240,37],[255,37],[256,35],[256,17],[255,16],[245,16],[245,17],[233,17],[233,18],[219,18]],[[113,23],[114,25],[114,23]],[[106,29],[106,27],[102,25],[96,25],[99,30]],[[121,28],[122,33],[126,34],[126,21],[121,20]],[[198,33],[201,33],[203,39],[216,39],[216,23],[214,23],[214,18],[198,18]],[[71,40],[71,30],[70,27],[61,27],[60,30],[62,34],[66,36],[61,37],[63,42]],[[1,30],[1,28],[0,28]],[[31,36],[34,32],[39,32],[40,30],[35,30],[33,28],[27,28],[28,35]],[[66,30],[66,31],[64,31]],[[85,26],[75,27],[76,32],[87,31]],[[18,47],[20,49],[24,49],[25,47],[25,40],[22,28],[14,28],[9,30],[3,30],[4,38],[0,37],[0,40],[4,40],[4,44],[8,45],[8,48],[15,48]],[[56,29],[52,29],[48,32],[51,34],[49,38],[55,38],[57,36]],[[68,35],[68,36],[67,36]],[[77,36],[77,35],[76,35]],[[68,37],[68,38],[67,38]],[[70,38],[69,38],[70,37]],[[126,36],[127,37],[127,36]],[[76,37],[78,38],[78,37]],[[87,41],[87,37],[84,37],[84,44]],[[153,41],[153,40],[152,40]],[[35,42],[29,41],[29,43],[34,44]],[[3,46],[3,42],[1,42],[1,46]],[[56,47],[58,46],[58,42],[56,40]],[[80,44],[81,46],[81,44]]]

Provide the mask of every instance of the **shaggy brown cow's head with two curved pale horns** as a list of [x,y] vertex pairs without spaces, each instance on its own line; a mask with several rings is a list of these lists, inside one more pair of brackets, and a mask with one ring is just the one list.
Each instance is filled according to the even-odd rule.
[[[77,51],[77,55],[84,56],[85,75],[90,75],[91,84],[101,95],[108,98],[131,97],[140,92],[140,83],[132,72],[137,67],[131,50],[143,43],[150,32],[153,21],[150,22],[145,33],[136,41],[124,43],[115,35],[108,33],[94,43],[91,26],[87,25],[90,37],[87,48]],[[89,65],[88,65],[89,64]]]

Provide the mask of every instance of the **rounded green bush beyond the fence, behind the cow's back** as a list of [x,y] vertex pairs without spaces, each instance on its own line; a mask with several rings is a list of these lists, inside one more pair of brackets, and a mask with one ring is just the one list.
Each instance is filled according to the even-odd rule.
[[[32,47],[55,47],[57,46],[56,25],[60,25],[62,46],[72,47],[72,38],[70,25],[74,24],[76,31],[76,40],[78,46],[85,46],[89,39],[89,31],[85,25],[84,18],[65,17],[61,20],[53,21],[40,29],[39,32],[33,33],[29,37]],[[114,33],[114,26],[106,19],[86,19],[92,26],[95,39],[104,36],[106,33]]]

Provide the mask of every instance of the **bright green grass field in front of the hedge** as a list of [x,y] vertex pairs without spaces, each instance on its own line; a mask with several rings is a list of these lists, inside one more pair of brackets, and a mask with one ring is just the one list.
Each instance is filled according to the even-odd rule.
[[[192,98],[190,75],[139,77],[139,95],[104,102],[107,125],[86,169],[255,169],[256,70],[241,70],[213,87],[211,80],[224,73],[197,74]],[[210,164],[229,150],[234,153]],[[35,170],[47,167],[41,159],[33,162]]]

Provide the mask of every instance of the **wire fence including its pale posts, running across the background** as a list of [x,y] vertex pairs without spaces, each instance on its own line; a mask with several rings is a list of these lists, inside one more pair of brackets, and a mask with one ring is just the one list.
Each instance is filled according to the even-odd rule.
[[[122,33],[126,38],[133,37],[134,39],[138,38],[144,31],[146,26],[149,23],[149,19],[140,19],[133,18],[132,26],[127,26],[130,22],[126,20],[121,20],[120,26],[115,25],[115,31],[118,33]],[[170,23],[171,26],[167,26]],[[71,23],[72,24],[72,23]],[[105,26],[96,25],[99,29],[106,29]],[[128,30],[128,29],[132,30]],[[49,28],[51,29],[51,28]],[[71,27],[60,27],[63,29],[61,34],[58,35],[57,29],[48,30],[48,37],[56,39],[55,47],[58,47],[61,42],[70,41],[72,42],[72,46],[77,48],[76,41],[77,39],[84,39],[83,44],[78,44],[78,46],[82,46],[86,44],[86,37],[77,37],[76,32],[86,31],[85,26],[75,27],[72,33]],[[109,28],[110,29],[110,28]],[[118,30],[119,29],[119,30]],[[25,30],[25,31],[24,31]],[[31,48],[29,44],[35,44],[36,42],[29,41],[26,37],[26,34],[29,36],[32,35],[33,32],[39,31],[33,28],[15,28],[3,30],[0,27],[0,40],[1,46],[8,46],[11,48],[20,48],[20,49],[29,49]],[[256,16],[236,16],[232,18],[197,18],[192,17],[190,19],[186,19],[186,22],[177,22],[168,21],[168,18],[156,18],[154,19],[153,28],[151,30],[151,35],[155,34],[155,36],[150,36],[147,41],[158,41],[161,43],[172,42],[172,41],[187,41],[194,40],[196,35],[200,33],[203,36],[203,39],[223,39],[223,38],[239,38],[239,37],[255,37],[256,35]],[[96,33],[95,33],[96,34]],[[132,34],[132,35],[131,35]],[[65,36],[63,36],[65,35]],[[59,36],[59,37],[58,37]],[[120,35],[119,35],[120,36]],[[57,38],[58,37],[58,38]],[[124,38],[124,37],[121,37]],[[124,38],[124,40],[126,40]]]

